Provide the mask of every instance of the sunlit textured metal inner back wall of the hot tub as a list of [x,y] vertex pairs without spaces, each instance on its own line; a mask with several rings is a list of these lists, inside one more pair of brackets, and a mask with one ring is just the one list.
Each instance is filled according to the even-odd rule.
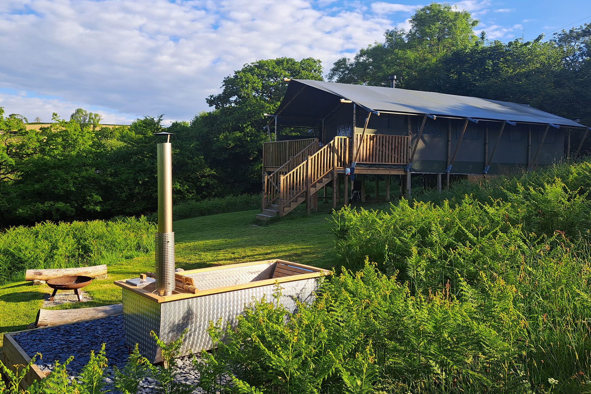
[[196,288],[204,290],[270,279],[275,265],[276,263],[263,263],[184,275],[193,278]]

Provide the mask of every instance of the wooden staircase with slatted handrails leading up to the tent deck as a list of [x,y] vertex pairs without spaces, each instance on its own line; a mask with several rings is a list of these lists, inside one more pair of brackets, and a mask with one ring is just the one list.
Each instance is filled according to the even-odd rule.
[[[336,137],[311,155],[306,155],[317,141],[306,146],[296,156],[271,175],[263,175],[262,213],[257,219],[283,217],[306,202],[310,213],[314,195],[334,180],[338,168],[348,161],[348,138]],[[296,165],[297,164],[297,165]]]

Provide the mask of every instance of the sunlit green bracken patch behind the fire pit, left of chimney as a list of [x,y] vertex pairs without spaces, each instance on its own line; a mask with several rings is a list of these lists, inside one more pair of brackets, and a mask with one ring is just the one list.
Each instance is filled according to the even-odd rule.
[[154,250],[155,225],[145,217],[10,227],[0,233],[0,283],[26,269],[111,264]]

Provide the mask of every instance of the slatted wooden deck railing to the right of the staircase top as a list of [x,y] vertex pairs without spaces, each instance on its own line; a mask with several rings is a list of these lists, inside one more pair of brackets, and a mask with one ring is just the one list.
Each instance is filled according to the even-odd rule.
[[[353,158],[359,151],[358,163],[408,164],[408,136],[356,133],[353,140]],[[361,146],[360,146],[361,145]]]

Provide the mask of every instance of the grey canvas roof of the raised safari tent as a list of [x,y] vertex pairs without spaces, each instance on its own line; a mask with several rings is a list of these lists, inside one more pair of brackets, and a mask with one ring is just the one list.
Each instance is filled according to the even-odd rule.
[[[310,89],[313,88],[313,89]],[[580,123],[552,115],[528,105],[478,97],[421,92],[420,90],[353,85],[306,79],[293,79],[282,100],[278,115],[282,125],[304,125],[304,119],[322,119],[340,99],[351,100],[362,108],[376,112],[397,112],[454,116],[489,121],[518,123],[553,123],[560,126],[585,127]],[[300,120],[296,120],[299,118]]]

